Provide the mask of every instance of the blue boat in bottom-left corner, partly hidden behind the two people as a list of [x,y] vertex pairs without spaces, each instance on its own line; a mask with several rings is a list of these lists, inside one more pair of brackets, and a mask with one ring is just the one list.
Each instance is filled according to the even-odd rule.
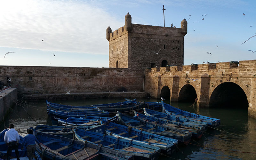
[[[7,148],[8,146],[5,144],[4,142],[4,133],[8,131],[8,129],[4,129],[2,132],[0,132],[0,158],[1,159],[6,159],[7,158]],[[20,160],[28,160],[28,156],[27,156],[27,148],[23,148],[21,150],[21,144],[22,144],[22,141],[23,141],[23,137],[20,136],[20,141],[19,141],[19,155],[20,155]],[[34,158],[34,160],[42,160],[41,156],[38,154],[37,151],[35,151],[35,156],[36,156],[36,159]],[[12,153],[11,153],[11,159],[12,157],[16,157],[16,154],[15,154],[15,151],[14,149],[12,150]]]

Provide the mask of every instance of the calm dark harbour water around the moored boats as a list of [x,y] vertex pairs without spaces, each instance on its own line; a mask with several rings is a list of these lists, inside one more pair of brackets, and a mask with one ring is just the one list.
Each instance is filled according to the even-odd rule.
[[[156,99],[140,99],[141,101],[159,101]],[[91,105],[123,101],[123,99],[92,99],[92,100],[68,100],[51,101],[70,105]],[[21,135],[26,135],[28,127],[38,124],[51,125],[46,113],[45,101],[31,102],[20,101],[21,106],[15,105],[5,118],[5,125],[14,124],[14,128]],[[169,102],[165,102],[169,103]],[[161,156],[159,159],[256,159],[256,120],[248,117],[246,109],[232,108],[193,108],[190,103],[171,103],[189,112],[221,119],[220,127],[208,129],[200,140],[191,140],[192,144],[181,146],[171,156]],[[28,112],[28,114],[26,113]],[[33,118],[31,118],[31,117]],[[0,125],[1,130],[4,124]],[[254,153],[248,153],[254,152]]]

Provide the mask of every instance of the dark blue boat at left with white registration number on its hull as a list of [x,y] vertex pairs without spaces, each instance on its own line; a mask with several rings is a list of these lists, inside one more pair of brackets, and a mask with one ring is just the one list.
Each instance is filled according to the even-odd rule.
[[49,110],[49,114],[52,120],[53,125],[58,124],[59,119],[67,119],[68,117],[75,117],[75,118],[84,118],[85,116],[108,116],[108,112],[104,110],[99,111],[84,111],[84,112],[63,112],[63,111],[55,111]]

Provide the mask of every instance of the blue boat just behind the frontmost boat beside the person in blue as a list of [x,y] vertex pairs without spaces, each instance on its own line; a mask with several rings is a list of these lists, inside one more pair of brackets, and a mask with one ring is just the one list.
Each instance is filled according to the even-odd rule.
[[80,129],[74,129],[74,135],[77,140],[97,145],[103,145],[105,148],[113,148],[114,150],[131,154],[135,158],[141,159],[157,159],[159,156],[160,148],[150,146],[148,144],[142,144],[133,140],[120,139],[114,136],[105,135],[99,132],[91,132]]

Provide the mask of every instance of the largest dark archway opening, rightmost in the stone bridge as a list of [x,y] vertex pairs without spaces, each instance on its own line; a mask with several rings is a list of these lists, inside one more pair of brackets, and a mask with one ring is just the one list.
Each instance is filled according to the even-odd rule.
[[248,108],[248,100],[244,90],[233,82],[224,82],[212,92],[209,107]]

